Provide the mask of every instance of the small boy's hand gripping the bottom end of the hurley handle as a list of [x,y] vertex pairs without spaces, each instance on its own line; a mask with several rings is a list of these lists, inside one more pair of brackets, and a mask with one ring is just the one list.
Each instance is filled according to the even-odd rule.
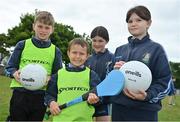
[[52,115],[58,115],[61,112],[57,102],[52,101],[50,103],[50,112]]

